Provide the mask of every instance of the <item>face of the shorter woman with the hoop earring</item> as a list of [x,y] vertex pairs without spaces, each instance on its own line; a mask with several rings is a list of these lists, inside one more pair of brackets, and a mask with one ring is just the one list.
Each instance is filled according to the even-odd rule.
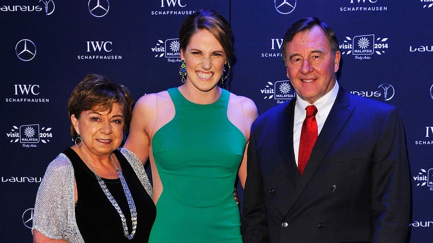
[[75,130],[83,140],[82,149],[95,156],[111,154],[123,141],[125,125],[121,105],[114,103],[110,111],[83,111],[80,119],[71,116]]

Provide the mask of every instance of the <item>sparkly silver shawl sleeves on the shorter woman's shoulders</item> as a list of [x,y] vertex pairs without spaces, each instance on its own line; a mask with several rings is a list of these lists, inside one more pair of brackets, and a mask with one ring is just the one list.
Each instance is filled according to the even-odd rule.
[[[138,157],[126,148],[119,151],[131,164],[141,184],[152,198],[153,191]],[[46,237],[71,243],[84,242],[75,221],[74,167],[60,153],[47,167],[36,195],[33,229]]]

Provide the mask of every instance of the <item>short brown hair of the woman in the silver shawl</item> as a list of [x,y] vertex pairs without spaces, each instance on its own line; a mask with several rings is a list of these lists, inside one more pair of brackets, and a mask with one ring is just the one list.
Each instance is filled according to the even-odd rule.
[[[80,118],[81,112],[95,110],[111,111],[114,103],[119,103],[125,120],[124,132],[129,129],[132,117],[133,99],[128,88],[99,74],[88,74],[75,87],[68,100],[68,116]],[[73,124],[70,135],[75,139],[78,134]]]

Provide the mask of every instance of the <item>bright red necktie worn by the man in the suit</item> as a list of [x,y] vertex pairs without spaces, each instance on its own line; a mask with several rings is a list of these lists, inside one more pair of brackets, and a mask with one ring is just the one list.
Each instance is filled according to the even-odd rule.
[[312,147],[314,147],[314,144],[316,143],[318,134],[316,106],[308,105],[305,110],[307,111],[307,116],[305,117],[304,123],[302,123],[301,139],[299,140],[298,171],[300,175],[302,175],[304,172]]

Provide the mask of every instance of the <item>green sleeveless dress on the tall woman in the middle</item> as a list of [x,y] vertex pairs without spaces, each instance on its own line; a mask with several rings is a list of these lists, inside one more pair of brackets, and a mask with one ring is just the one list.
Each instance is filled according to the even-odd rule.
[[149,242],[242,242],[233,198],[244,134],[227,118],[230,93],[195,104],[168,90],[176,114],[152,140],[163,192]]

